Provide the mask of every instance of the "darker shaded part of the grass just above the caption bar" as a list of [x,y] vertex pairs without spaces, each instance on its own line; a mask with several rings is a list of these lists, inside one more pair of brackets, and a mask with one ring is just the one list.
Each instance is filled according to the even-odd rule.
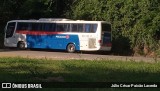
[[0,67],[0,81],[41,82],[48,77],[61,77],[64,82],[160,82],[159,72],[149,73],[143,70],[80,67],[67,64],[63,64],[62,68],[65,70],[58,71],[54,68],[25,64]]

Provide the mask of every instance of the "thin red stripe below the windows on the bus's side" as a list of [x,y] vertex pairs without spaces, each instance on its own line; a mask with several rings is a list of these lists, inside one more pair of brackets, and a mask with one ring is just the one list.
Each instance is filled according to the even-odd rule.
[[63,33],[63,32],[17,30],[16,33],[20,33],[20,34],[30,34],[30,35],[50,35],[50,34],[61,34],[61,33]]

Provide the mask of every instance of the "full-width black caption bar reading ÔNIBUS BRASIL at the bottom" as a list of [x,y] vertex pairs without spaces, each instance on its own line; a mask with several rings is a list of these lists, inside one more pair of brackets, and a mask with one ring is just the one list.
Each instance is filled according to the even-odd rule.
[[160,82],[2,82],[0,88],[160,88]]

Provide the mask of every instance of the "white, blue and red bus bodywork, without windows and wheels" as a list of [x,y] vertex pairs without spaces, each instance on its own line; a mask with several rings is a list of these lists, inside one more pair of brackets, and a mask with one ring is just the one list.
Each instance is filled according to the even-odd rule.
[[[43,49],[63,49],[66,50],[67,45],[73,43],[76,50],[83,51],[110,51],[111,50],[111,31],[102,32],[103,21],[37,21],[37,20],[14,20],[8,23],[15,22],[14,33],[12,37],[6,38],[5,32],[4,45],[8,47],[17,47],[18,42],[23,41],[26,48],[43,48]],[[8,27],[6,25],[6,29]],[[42,24],[86,24],[83,29],[89,24],[97,24],[96,32],[48,32],[37,30],[18,30],[18,23],[42,23]],[[109,25],[109,23],[107,23]],[[67,27],[68,29],[71,29]]]

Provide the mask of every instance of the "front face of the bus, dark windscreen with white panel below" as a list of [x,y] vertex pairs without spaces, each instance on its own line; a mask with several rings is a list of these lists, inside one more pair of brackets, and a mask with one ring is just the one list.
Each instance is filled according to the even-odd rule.
[[15,26],[16,26],[16,22],[10,22],[7,24],[7,27],[5,30],[5,44],[11,45],[11,46],[16,44],[17,41],[14,36]]

